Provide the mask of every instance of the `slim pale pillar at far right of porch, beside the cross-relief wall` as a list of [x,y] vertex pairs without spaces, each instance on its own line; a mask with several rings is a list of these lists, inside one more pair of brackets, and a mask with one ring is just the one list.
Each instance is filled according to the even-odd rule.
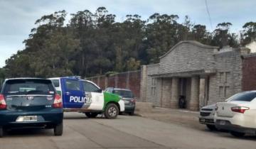
[[206,105],[206,77],[201,76],[199,81],[199,108]]

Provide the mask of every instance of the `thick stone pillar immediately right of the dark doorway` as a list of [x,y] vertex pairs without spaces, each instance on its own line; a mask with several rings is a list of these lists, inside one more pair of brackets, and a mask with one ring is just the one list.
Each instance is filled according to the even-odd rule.
[[199,109],[199,77],[191,78],[191,99],[188,109],[198,111]]

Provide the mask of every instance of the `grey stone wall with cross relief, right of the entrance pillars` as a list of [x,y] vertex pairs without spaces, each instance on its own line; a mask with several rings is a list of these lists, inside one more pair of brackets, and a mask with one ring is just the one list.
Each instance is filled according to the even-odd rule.
[[210,76],[209,101],[215,104],[242,91],[242,58],[240,49],[214,55],[216,74]]

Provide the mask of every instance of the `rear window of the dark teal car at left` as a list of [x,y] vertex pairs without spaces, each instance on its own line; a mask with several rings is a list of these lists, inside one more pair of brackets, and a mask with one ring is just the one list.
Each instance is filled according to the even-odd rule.
[[4,94],[54,94],[48,79],[10,79],[6,81]]

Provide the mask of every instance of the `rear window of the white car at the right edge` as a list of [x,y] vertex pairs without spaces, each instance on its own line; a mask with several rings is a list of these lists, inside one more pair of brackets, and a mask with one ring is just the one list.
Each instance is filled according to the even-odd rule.
[[242,92],[230,96],[227,101],[252,101],[256,97],[256,92]]

